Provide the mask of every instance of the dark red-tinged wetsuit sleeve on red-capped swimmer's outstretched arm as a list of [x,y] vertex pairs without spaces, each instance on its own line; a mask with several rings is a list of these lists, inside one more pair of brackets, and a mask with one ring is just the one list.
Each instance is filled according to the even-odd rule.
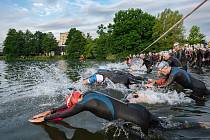
[[45,121],[50,121],[50,120],[61,120],[67,117],[74,116],[78,113],[83,111],[83,107],[80,104],[76,104],[74,107],[71,109],[66,108],[65,110],[62,111],[57,111],[54,114],[51,114],[47,117],[44,118]]

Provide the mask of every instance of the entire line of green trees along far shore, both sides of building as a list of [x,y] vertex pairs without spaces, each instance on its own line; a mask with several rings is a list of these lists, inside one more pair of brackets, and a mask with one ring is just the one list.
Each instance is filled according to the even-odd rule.
[[[69,58],[84,55],[90,59],[120,59],[129,54],[139,54],[160,35],[183,17],[179,11],[165,9],[157,17],[141,9],[128,9],[117,12],[113,22],[107,26],[101,24],[96,31],[98,37],[84,35],[76,28],[69,30],[65,52]],[[175,42],[197,44],[202,43],[205,36],[200,28],[193,26],[188,37],[184,35],[183,23],[180,23],[165,37],[150,47],[146,52],[159,52],[173,47]],[[40,55],[58,49],[52,33],[30,31],[23,33],[10,29],[4,41],[4,54]]]

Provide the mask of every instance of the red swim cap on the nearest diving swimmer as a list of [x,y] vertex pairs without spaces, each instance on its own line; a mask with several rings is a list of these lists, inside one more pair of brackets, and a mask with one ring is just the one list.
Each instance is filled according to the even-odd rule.
[[81,93],[79,91],[73,91],[69,96],[66,97],[66,105],[68,108],[74,106],[79,98],[81,97]]

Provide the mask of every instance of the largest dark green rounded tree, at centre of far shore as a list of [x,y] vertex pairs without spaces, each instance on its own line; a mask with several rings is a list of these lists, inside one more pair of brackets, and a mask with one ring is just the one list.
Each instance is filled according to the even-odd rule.
[[98,26],[94,55],[97,59],[120,59],[137,54],[152,42],[155,17],[141,9],[128,9],[115,14],[113,24]]

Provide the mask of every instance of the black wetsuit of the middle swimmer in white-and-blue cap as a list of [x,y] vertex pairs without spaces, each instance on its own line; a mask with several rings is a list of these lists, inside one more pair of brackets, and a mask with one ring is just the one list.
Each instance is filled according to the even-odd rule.
[[120,83],[124,84],[126,87],[129,88],[131,84],[138,84],[141,83],[139,80],[147,80],[141,76],[134,76],[130,73],[114,70],[114,71],[98,71],[96,74],[103,75],[104,79],[108,78],[113,83]]

